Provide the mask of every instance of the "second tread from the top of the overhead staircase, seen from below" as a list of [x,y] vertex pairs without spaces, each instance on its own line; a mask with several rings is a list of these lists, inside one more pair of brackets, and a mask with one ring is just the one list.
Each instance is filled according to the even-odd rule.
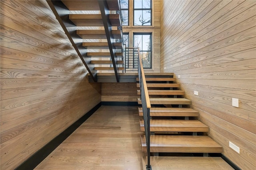
[[[103,21],[101,14],[69,14],[69,19],[76,26],[92,26],[102,27]],[[109,14],[110,23],[112,26],[121,26],[119,14]]]

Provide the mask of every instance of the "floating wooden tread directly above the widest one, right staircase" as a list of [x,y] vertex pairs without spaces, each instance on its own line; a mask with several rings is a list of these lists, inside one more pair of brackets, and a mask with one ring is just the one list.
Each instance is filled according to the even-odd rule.
[[[144,121],[140,120],[140,130],[145,131]],[[208,132],[208,126],[198,120],[151,119],[153,132]]]

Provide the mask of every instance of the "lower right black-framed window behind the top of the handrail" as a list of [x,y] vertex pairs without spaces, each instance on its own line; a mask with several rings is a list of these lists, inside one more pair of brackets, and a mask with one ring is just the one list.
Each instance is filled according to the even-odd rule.
[[134,33],[134,47],[140,49],[143,68],[152,68],[151,33]]

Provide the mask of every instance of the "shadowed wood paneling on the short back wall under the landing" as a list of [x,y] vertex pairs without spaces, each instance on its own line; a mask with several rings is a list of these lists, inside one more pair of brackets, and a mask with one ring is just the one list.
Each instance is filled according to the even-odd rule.
[[102,102],[137,102],[136,83],[102,83]]

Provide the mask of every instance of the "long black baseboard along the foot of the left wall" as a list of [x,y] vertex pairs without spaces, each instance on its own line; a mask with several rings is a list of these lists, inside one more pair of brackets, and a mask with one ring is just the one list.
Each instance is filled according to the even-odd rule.
[[101,102],[93,107],[90,111],[84,114],[75,123],[70,125],[66,130],[64,130],[60,135],[52,139],[48,144],[46,144],[42,149],[34,153],[30,158],[18,166],[15,170],[33,170],[42,162],[54,149],[56,149],[65,139],[67,139],[84,121],[86,121],[98,108],[100,108]]

